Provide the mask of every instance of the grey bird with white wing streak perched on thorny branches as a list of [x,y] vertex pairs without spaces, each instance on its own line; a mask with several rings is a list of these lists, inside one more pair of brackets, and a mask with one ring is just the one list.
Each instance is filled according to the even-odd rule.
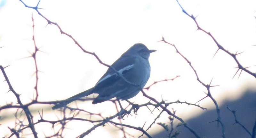
[[94,87],[66,100],[58,101],[52,109],[65,107],[72,101],[81,100],[82,97],[93,93],[99,95],[92,101],[92,104],[101,103],[115,97],[117,100],[128,100],[136,96],[150,77],[148,59],[152,52],[156,52],[156,50],[149,50],[146,45],[141,43],[134,44],[108,68]]

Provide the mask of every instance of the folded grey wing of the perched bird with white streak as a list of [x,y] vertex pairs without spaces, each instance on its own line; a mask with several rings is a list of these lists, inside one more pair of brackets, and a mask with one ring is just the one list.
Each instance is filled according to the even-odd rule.
[[[116,62],[114,62],[111,66],[122,74],[124,78],[126,78],[126,76],[129,76],[129,74],[132,72],[135,60],[136,59],[133,57],[123,56],[122,58],[117,59]],[[97,93],[97,91],[101,88],[107,87],[120,79],[122,78],[118,76],[112,68],[108,68],[107,72],[96,83],[92,91]]]

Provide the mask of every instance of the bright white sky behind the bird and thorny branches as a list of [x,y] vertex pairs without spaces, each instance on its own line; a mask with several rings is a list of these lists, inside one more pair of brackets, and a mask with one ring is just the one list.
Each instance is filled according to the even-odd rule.
[[[34,1],[24,2],[29,6],[37,4]],[[244,52],[237,57],[238,60],[244,67],[250,66],[250,71],[256,71],[256,46],[252,46],[256,45],[256,19],[254,17],[256,1],[182,0],[180,4],[189,14],[198,16],[196,19],[200,27],[210,31],[225,49],[233,53]],[[212,58],[217,46],[208,35],[202,31],[196,31],[194,21],[182,13],[178,3],[174,0],[41,0],[39,7],[44,9],[40,12],[45,17],[57,22],[62,30],[72,35],[85,50],[95,52],[104,63],[109,65],[135,43],[143,43],[149,49],[157,50],[150,56],[151,77],[146,86],[154,81],[171,79],[180,75],[174,81],[158,83],[147,91],[148,95],[158,100],[161,100],[162,96],[168,101],[180,100],[195,103],[205,96],[204,91],[206,91],[196,81],[195,73],[188,63],[176,53],[175,49],[171,45],[157,42],[162,39],[162,36],[166,41],[175,44],[179,51],[192,62],[199,78],[204,83],[210,83],[213,78],[212,85],[220,85],[211,89],[213,97],[220,105],[225,99],[238,98],[243,90],[255,88],[255,78],[246,72],[242,72],[239,79],[237,79],[238,75],[232,79],[237,65],[229,55],[219,51]],[[94,86],[106,72],[107,67],[99,64],[94,56],[83,53],[70,38],[60,34],[55,25],[47,25],[47,22],[35,10],[26,8],[18,0],[9,0],[0,9],[0,47],[4,46],[0,49],[0,65],[11,65],[5,71],[16,92],[22,94],[21,100],[24,103],[29,102],[35,95],[33,89],[35,86],[34,62],[32,58],[25,58],[34,51],[31,39],[33,35],[32,13],[35,19],[36,44],[43,51],[38,52],[36,57],[38,69],[41,71],[38,82],[39,100],[63,100]],[[0,80],[4,81],[3,75],[0,75]],[[0,105],[16,103],[13,94],[7,93],[8,86],[3,81],[0,81]],[[139,93],[131,101],[144,103],[148,100]],[[92,105],[91,101],[88,101],[77,102],[77,104],[90,111],[100,111],[106,116],[115,111],[115,107],[110,102]],[[214,107],[209,99],[201,101],[200,105],[209,109]],[[52,112],[50,107],[31,106],[32,109],[40,111],[43,108],[46,119],[56,120],[56,114],[60,115],[60,113],[59,111]],[[184,119],[195,114],[194,110],[196,113],[201,112],[199,108],[193,106],[172,105],[171,107],[177,110],[177,115]],[[124,123],[134,122],[132,125],[142,127],[147,121],[146,126],[149,125],[154,115],[150,114],[148,109],[140,110],[136,118],[129,116]],[[10,112],[1,111],[0,116],[4,115],[12,116]],[[163,115],[157,122],[166,121],[167,117]],[[13,122],[5,122],[3,125],[2,121],[0,120],[2,124],[0,137],[3,137],[2,134],[6,134],[6,131],[9,132],[7,126],[13,126]],[[74,137],[74,134],[80,135],[87,130],[81,127],[78,129],[72,124],[68,124],[68,127],[72,131],[75,129],[77,133],[67,133],[67,137]],[[87,126],[89,129],[92,124]],[[47,128],[49,130],[39,131],[38,135],[44,136],[42,132],[52,135],[51,126]],[[111,127],[97,128],[90,134],[90,137],[122,136],[122,133],[112,134],[112,129]],[[157,126],[155,129],[157,131],[162,128]],[[1,132],[2,130],[4,132]]]

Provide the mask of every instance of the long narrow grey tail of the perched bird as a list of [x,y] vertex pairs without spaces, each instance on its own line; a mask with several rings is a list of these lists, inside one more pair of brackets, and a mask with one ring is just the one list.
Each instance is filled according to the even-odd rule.
[[52,110],[58,109],[60,107],[64,107],[67,104],[71,103],[72,101],[79,100],[82,97],[85,97],[85,96],[88,96],[88,95],[92,94],[92,89],[93,89],[93,87],[91,89],[88,89],[88,90],[82,92],[82,93],[78,93],[78,94],[76,94],[76,95],[74,95],[74,96],[72,96],[72,97],[70,97],[66,100],[59,101],[55,106],[52,107]]

